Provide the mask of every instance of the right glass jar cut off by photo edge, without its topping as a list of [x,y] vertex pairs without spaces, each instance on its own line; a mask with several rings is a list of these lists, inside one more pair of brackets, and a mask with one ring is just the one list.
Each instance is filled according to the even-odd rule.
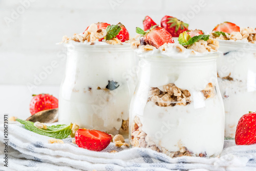
[[225,137],[234,138],[238,120],[256,111],[256,44],[219,40],[218,81],[225,107]]

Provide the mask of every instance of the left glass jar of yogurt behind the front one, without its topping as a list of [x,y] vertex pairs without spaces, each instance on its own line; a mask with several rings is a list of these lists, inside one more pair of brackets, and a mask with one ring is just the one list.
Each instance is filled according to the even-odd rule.
[[59,94],[59,122],[128,135],[135,65],[130,44],[68,44]]

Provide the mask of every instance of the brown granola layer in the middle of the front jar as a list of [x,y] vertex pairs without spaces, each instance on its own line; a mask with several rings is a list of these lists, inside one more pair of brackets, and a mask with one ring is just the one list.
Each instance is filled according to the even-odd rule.
[[152,87],[148,101],[152,101],[160,107],[176,105],[186,106],[191,102],[191,94],[189,91],[181,90],[180,88],[176,87],[175,84],[164,85],[163,90],[164,91],[161,91],[157,87]]

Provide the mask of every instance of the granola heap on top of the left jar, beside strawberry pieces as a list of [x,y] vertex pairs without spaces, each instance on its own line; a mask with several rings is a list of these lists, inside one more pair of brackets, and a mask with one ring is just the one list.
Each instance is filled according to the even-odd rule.
[[[105,29],[98,29],[95,23],[92,23],[89,28],[83,34],[74,34],[73,37],[63,36],[61,43],[68,43],[70,41],[76,42],[91,42],[92,44],[97,41],[98,39],[102,39],[106,36]],[[105,41],[105,40],[102,40]],[[105,41],[108,44],[121,44],[122,42],[117,39],[113,38],[112,40]]]

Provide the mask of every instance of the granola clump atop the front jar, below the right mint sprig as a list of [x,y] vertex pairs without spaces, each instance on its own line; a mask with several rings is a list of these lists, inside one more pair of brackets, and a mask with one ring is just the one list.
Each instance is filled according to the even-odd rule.
[[187,48],[199,53],[204,53],[207,51],[217,52],[219,48],[219,41],[212,38],[209,38],[207,41],[201,39],[191,45],[188,45]]

